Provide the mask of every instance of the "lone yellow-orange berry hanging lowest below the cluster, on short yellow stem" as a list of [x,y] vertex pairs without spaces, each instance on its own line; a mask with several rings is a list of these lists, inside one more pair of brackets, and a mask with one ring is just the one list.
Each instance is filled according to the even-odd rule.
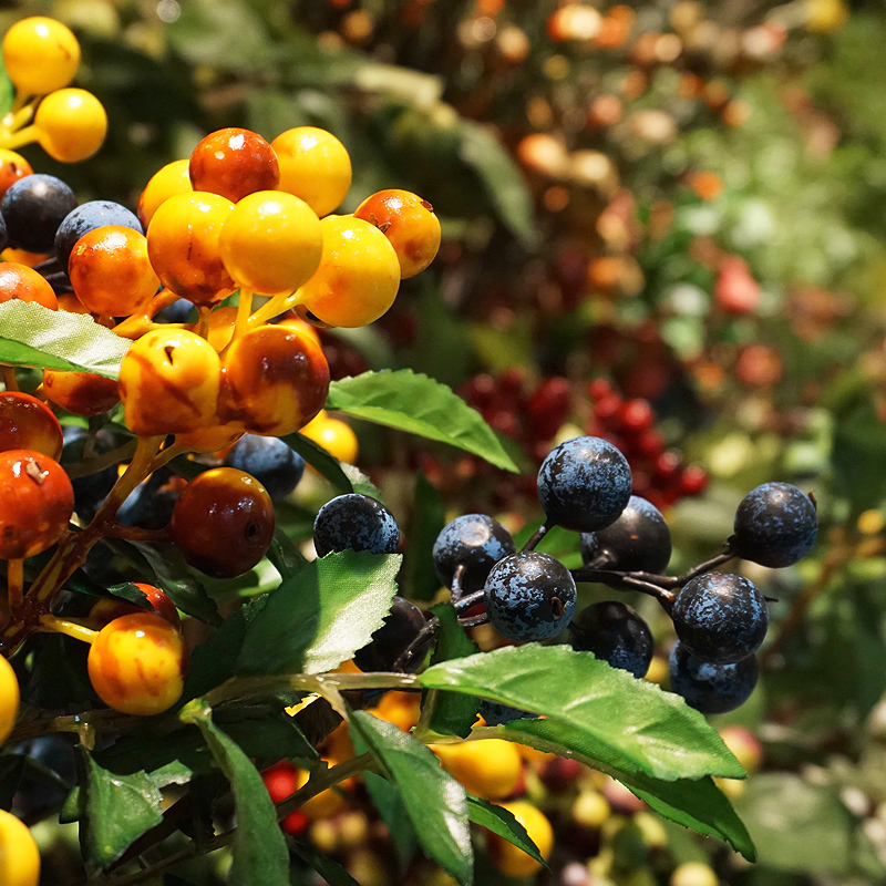
[[163,713],[182,697],[187,649],[182,633],[150,612],[115,618],[99,631],[86,666],[99,698],[121,713]]

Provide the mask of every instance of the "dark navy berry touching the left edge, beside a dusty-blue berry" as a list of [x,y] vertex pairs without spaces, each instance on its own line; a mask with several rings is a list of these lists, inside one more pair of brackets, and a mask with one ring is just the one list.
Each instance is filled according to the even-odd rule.
[[0,202],[9,245],[29,253],[51,253],[55,231],[76,207],[76,197],[61,178],[35,173],[13,182]]

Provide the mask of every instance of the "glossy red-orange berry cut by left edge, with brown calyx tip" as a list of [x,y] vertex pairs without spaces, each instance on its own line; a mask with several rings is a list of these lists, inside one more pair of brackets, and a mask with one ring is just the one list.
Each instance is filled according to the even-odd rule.
[[31,450],[0,453],[0,559],[52,547],[73,512],[74,490],[56,461]]

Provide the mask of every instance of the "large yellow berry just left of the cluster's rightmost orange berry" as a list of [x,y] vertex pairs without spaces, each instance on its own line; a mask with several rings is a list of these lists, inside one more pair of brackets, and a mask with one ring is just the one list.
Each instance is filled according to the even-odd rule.
[[388,238],[372,224],[350,216],[320,222],[320,266],[301,287],[301,303],[330,326],[374,322],[394,303],[400,262]]

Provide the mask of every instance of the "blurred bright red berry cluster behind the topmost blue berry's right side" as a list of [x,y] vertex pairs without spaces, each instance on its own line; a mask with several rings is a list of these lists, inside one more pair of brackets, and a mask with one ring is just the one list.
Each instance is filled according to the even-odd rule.
[[593,414],[587,432],[618,446],[630,463],[633,493],[666,507],[684,496],[699,495],[708,485],[704,468],[686,464],[669,450],[656,430],[656,413],[648,400],[625,400],[605,379],[588,383]]

